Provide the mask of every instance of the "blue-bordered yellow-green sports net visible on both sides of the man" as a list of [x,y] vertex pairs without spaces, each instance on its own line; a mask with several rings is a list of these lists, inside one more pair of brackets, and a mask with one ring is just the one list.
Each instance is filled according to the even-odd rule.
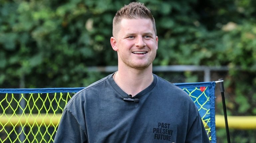
[[[176,85],[190,95],[211,143],[216,143],[215,83]],[[0,141],[52,143],[65,105],[80,89],[0,89]]]

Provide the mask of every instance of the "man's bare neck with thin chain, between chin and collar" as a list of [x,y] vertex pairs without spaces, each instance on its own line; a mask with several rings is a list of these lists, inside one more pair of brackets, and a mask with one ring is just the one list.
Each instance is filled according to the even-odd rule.
[[143,70],[118,68],[114,81],[127,94],[135,96],[152,83],[152,66]]

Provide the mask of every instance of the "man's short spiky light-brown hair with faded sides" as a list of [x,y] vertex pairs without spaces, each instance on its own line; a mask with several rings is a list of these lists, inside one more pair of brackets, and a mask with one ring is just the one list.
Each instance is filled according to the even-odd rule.
[[145,18],[150,19],[153,24],[153,29],[155,34],[157,35],[156,30],[156,23],[153,15],[151,14],[151,11],[149,8],[144,6],[143,3],[140,2],[132,2],[129,5],[125,5],[122,7],[119,11],[117,11],[115,17],[113,18],[113,30],[112,34],[115,37],[117,32],[119,31],[118,24],[122,20],[122,18],[127,19],[139,19],[139,18]]

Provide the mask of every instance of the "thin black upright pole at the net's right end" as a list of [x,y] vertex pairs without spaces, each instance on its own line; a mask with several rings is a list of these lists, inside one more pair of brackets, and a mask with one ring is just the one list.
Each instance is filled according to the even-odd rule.
[[223,106],[225,125],[226,125],[226,133],[227,133],[227,142],[230,143],[229,129],[228,129],[228,123],[227,123],[227,109],[226,109],[225,96],[224,96],[223,79],[219,79],[219,81],[221,81],[221,82],[219,82],[219,87],[220,87],[220,93],[221,93],[221,97],[222,97],[222,106]]

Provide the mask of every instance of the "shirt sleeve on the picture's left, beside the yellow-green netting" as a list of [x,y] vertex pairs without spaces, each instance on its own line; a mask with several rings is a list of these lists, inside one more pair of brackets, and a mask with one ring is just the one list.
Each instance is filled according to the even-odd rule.
[[73,114],[67,109],[62,114],[54,143],[87,143],[87,137],[84,130]]

